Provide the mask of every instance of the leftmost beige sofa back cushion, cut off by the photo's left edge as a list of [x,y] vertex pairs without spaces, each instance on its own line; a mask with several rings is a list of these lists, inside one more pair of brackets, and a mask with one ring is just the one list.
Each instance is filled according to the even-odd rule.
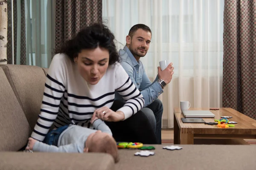
[[32,132],[1,67],[0,81],[0,151],[16,151],[26,145]]

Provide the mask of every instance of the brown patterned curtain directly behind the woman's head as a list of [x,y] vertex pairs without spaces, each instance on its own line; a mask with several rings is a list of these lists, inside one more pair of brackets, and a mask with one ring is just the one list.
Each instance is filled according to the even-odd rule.
[[81,28],[102,23],[102,0],[56,0],[55,48]]

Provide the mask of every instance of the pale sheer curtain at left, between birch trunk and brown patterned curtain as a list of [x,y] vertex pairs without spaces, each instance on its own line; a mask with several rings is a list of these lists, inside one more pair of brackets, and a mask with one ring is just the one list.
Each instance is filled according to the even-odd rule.
[[26,18],[26,64],[48,68],[52,60],[55,36],[55,0],[23,2]]

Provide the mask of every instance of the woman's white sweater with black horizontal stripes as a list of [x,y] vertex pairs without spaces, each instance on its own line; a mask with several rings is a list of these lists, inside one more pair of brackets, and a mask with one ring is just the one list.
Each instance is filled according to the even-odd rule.
[[52,123],[55,127],[80,125],[90,127],[90,119],[97,108],[111,108],[115,91],[126,101],[118,111],[125,119],[140,111],[144,99],[119,63],[109,65],[96,85],[87,84],[75,63],[65,54],[56,54],[48,70],[41,113],[31,137],[43,141]]

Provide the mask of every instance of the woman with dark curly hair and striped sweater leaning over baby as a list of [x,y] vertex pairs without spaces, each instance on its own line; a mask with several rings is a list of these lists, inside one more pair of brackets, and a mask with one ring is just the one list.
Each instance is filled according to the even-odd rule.
[[[96,117],[109,125],[116,141],[157,143],[140,111],[143,96],[120,65],[114,38],[103,24],[93,24],[57,50],[32,138],[44,141],[52,124],[93,128],[90,120]],[[114,100],[115,91],[125,103]]]

